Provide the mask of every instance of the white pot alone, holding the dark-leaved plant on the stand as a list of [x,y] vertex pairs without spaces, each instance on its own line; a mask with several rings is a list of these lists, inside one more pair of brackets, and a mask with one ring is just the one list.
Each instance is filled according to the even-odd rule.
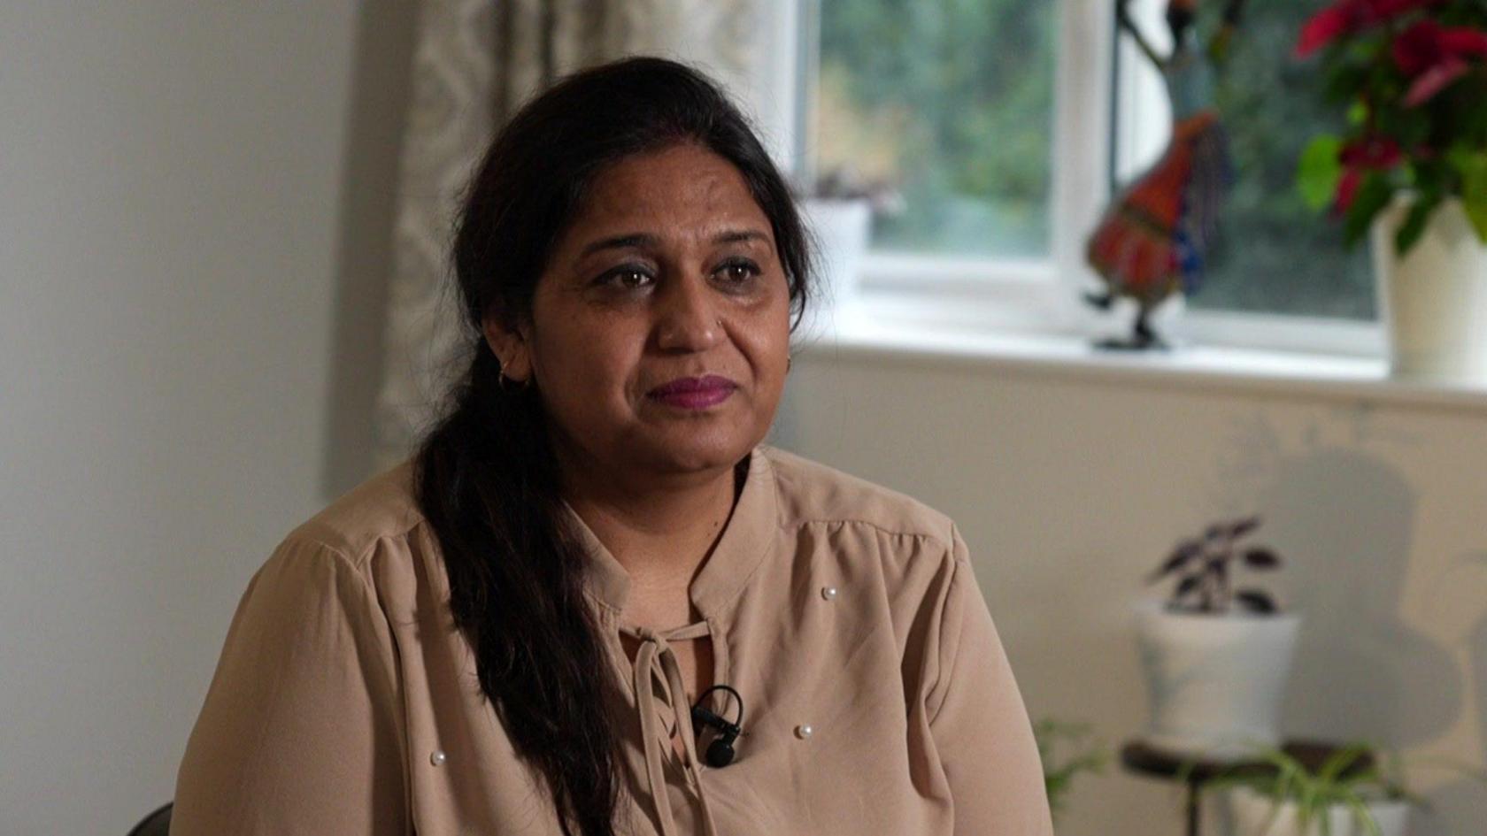
[[1151,698],[1144,739],[1209,759],[1279,745],[1300,628],[1297,614],[1187,614],[1139,604],[1136,638]]

